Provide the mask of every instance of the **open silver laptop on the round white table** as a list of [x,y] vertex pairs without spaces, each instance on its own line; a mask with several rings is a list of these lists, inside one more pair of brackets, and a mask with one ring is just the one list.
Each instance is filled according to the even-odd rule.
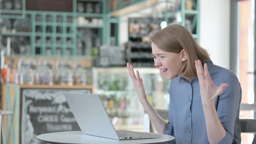
[[115,130],[97,94],[63,92],[83,134],[115,140],[158,138],[159,134]]

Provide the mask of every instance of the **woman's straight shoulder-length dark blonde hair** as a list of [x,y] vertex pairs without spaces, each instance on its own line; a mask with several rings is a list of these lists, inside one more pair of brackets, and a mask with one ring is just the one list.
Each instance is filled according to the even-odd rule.
[[192,79],[197,76],[195,68],[195,60],[200,59],[202,63],[210,60],[208,52],[201,48],[191,33],[178,24],[167,26],[151,35],[151,41],[159,49],[166,52],[179,53],[183,49],[187,54],[187,60],[183,62],[183,66],[179,75]]

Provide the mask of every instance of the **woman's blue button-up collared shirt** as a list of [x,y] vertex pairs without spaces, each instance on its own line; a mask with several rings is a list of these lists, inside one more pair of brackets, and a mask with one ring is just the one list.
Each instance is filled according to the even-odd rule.
[[[240,83],[230,70],[213,65],[212,61],[207,62],[207,66],[216,86],[229,84],[215,99],[218,117],[226,131],[225,137],[218,144],[240,144]],[[189,82],[177,76],[171,80],[169,94],[169,121],[165,125],[164,134],[174,136],[177,144],[209,144],[198,77]]]

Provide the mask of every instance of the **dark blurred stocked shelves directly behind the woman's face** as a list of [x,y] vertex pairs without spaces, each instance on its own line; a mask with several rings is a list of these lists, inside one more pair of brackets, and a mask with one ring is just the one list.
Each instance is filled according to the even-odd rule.
[[129,18],[127,60],[134,67],[154,67],[150,43],[151,31],[160,28],[163,18]]

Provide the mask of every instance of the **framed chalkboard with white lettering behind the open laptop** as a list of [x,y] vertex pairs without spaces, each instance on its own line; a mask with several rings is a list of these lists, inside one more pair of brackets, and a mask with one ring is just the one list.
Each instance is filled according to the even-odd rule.
[[41,144],[39,134],[80,131],[62,92],[91,93],[91,89],[21,89],[20,144]]

